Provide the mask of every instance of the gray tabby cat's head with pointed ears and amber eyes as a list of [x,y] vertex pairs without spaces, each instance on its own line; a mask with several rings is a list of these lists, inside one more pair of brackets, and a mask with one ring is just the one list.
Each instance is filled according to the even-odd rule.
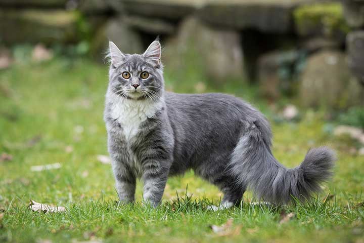
[[110,42],[109,90],[120,98],[157,101],[163,94],[161,46],[152,42],[143,54],[124,54]]

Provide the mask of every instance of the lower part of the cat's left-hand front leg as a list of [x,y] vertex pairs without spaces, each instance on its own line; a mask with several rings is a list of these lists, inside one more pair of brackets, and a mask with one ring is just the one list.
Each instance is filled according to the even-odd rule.
[[135,195],[136,178],[127,164],[112,160],[115,187],[121,203],[132,203]]

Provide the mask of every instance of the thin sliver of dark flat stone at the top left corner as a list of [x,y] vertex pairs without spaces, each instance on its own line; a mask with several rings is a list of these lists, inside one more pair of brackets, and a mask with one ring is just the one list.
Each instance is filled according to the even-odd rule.
[[4,7],[65,7],[70,0],[0,0]]

